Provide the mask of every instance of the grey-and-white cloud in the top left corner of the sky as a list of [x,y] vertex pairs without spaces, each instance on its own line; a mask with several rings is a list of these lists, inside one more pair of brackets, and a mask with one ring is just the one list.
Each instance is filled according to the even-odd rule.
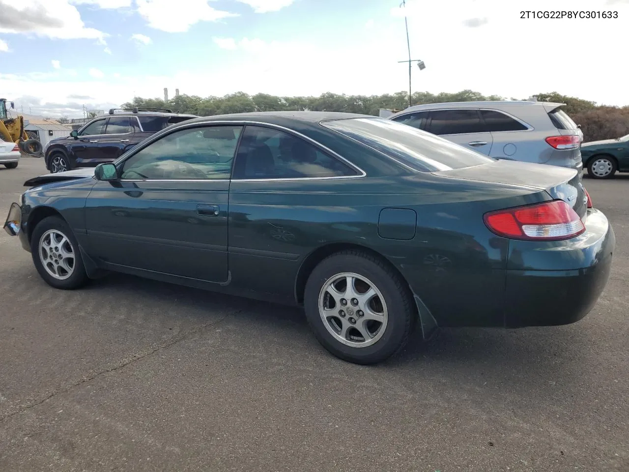
[[30,33],[60,39],[103,39],[106,36],[103,31],[87,28],[79,11],[67,0],[3,3],[0,33]]

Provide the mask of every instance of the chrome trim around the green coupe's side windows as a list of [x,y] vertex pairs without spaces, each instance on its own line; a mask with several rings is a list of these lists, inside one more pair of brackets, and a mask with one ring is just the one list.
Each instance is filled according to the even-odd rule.
[[[243,126],[243,132],[244,132],[244,127],[249,125],[249,126],[262,126],[263,128],[273,128],[279,131],[283,131],[289,134],[292,134],[296,137],[302,138],[304,140],[306,140],[306,142],[311,143],[312,145],[314,145],[315,147],[318,147],[321,150],[324,150],[327,154],[330,154],[331,156],[335,157],[338,160],[341,160],[344,164],[346,164],[347,166],[351,167],[354,171],[359,172],[359,174],[355,175],[355,176],[331,176],[331,177],[289,177],[289,178],[282,178],[282,177],[274,177],[274,178],[269,178],[269,179],[119,179],[120,182],[277,182],[277,181],[304,181],[304,180],[330,180],[330,179],[359,179],[362,177],[367,177],[367,172],[365,172],[363,169],[361,169],[359,166],[356,166],[355,164],[353,164],[352,162],[350,162],[349,160],[345,159],[345,157],[343,157],[342,155],[338,154],[337,152],[334,152],[333,150],[331,150],[329,147],[321,144],[320,142],[315,141],[314,139],[299,133],[298,131],[295,130],[291,130],[291,128],[286,128],[286,126],[281,126],[281,125],[275,125],[273,123],[265,123],[264,121],[252,121],[252,120],[208,120],[208,121],[201,121],[201,122],[195,122],[195,123],[186,123],[186,121],[182,121],[181,123],[177,123],[176,125],[174,125],[174,128],[165,128],[165,130],[161,130],[157,133],[155,133],[152,137],[147,138],[147,140],[144,142],[144,144],[142,145],[142,147],[134,147],[132,150],[130,150],[129,152],[131,154],[129,155],[122,155],[121,157],[119,157],[118,159],[116,159],[116,161],[113,162],[114,166],[118,167],[118,165],[120,164],[124,164],[124,162],[127,159],[130,159],[131,157],[133,157],[135,154],[137,154],[138,152],[142,151],[142,149],[147,148],[148,146],[150,146],[152,143],[154,143],[155,141],[159,140],[160,138],[164,137],[165,135],[170,135],[172,133],[176,133],[178,131],[181,130],[186,130],[189,128],[202,128],[205,126],[213,126],[213,125],[217,125],[217,126]],[[172,125],[171,125],[172,126]],[[329,128],[328,128],[329,129]],[[166,132],[167,130],[167,132]],[[240,147],[240,138],[238,140],[238,144],[237,144],[237,148],[236,151],[238,151],[238,147]],[[233,160],[237,159],[237,155],[238,152],[236,152],[236,154],[233,157]],[[120,162],[117,162],[118,160],[120,160]],[[404,164],[403,164],[404,165]],[[232,167],[233,169],[233,164]],[[413,169],[415,170],[415,169]]]

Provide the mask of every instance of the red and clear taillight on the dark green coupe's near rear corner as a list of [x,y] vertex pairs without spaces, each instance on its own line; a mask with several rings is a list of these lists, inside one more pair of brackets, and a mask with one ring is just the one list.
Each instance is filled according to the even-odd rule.
[[509,239],[556,241],[586,230],[576,211],[563,200],[491,211],[484,220],[492,232]]

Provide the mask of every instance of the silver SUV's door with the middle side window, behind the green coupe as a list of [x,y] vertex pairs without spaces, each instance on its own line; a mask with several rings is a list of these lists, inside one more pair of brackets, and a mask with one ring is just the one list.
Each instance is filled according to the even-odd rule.
[[432,110],[426,130],[482,154],[491,153],[493,137],[484,129],[478,110]]

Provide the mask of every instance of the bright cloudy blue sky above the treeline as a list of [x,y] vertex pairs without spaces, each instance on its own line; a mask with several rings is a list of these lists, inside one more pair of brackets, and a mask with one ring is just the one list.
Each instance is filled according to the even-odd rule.
[[[82,104],[106,109],[164,87],[394,93],[408,89],[399,1],[0,0],[0,96],[25,113],[81,116]],[[618,18],[523,20],[522,8]],[[627,0],[407,0],[406,14],[413,59],[426,62],[413,70],[416,91],[629,104],[626,73],[610,73],[627,70]]]

